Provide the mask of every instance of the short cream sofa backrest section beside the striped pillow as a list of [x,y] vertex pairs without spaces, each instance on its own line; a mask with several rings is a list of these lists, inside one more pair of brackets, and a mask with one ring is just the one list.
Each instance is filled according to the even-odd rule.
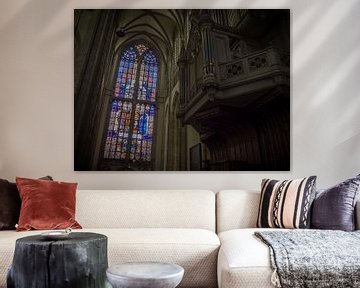
[[222,190],[216,194],[216,231],[256,227],[260,192]]

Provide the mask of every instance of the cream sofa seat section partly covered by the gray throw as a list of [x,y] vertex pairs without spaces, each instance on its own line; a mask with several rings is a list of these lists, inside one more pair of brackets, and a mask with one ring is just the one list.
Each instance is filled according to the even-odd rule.
[[[235,229],[219,234],[218,257],[220,288],[273,288],[269,248],[254,236],[265,228]],[[270,229],[266,229],[270,230]]]

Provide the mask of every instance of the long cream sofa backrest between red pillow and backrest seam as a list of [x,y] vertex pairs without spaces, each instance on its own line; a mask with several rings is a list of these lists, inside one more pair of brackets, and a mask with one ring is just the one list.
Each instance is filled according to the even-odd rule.
[[215,231],[215,193],[209,190],[78,190],[76,220],[84,228]]

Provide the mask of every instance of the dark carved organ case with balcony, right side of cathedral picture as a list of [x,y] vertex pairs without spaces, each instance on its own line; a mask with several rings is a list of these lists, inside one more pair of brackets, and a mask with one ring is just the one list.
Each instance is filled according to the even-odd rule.
[[205,170],[290,169],[289,10],[192,10],[178,60],[183,124]]

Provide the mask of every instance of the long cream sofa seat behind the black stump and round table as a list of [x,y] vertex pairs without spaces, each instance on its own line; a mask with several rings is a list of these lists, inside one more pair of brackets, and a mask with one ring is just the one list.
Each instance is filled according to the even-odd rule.
[[[77,230],[73,230],[76,232]],[[109,265],[136,261],[176,263],[185,269],[179,287],[216,287],[216,263],[220,241],[204,229],[82,229],[108,237]],[[6,287],[9,268],[17,238],[44,231],[1,231],[0,287]]]

